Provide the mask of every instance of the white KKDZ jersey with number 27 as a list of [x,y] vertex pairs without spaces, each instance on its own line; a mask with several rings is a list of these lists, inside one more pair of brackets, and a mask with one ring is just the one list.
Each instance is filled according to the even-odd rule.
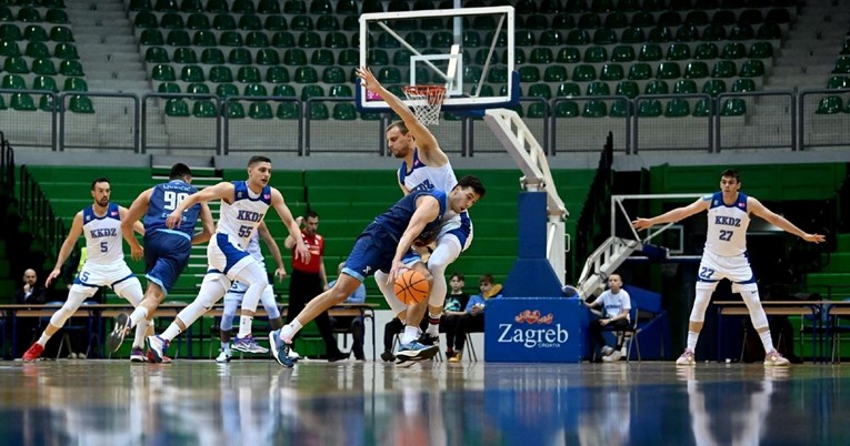
[[747,252],[747,226],[750,213],[747,211],[747,195],[738,193],[731,205],[723,203],[722,192],[706,195],[710,200],[708,210],[708,235],[706,251],[723,257],[733,257]]

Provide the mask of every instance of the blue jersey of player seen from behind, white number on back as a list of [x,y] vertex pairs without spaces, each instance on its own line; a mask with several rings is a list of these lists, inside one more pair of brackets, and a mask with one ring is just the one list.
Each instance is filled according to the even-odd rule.
[[201,213],[200,203],[183,211],[183,220],[173,230],[168,229],[166,219],[177,209],[180,202],[197,192],[197,189],[182,180],[172,180],[168,183],[153,186],[153,191],[150,194],[148,213],[144,215],[144,231],[164,231],[188,235],[191,239],[192,234],[194,234],[194,224],[198,222],[198,216]]

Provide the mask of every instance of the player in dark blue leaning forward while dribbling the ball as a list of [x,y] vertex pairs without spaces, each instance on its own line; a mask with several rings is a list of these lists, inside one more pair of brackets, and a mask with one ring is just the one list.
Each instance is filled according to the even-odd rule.
[[[384,213],[378,215],[358,236],[342,274],[333,287],[310,301],[294,321],[269,334],[274,359],[287,367],[294,365],[289,357],[289,344],[304,324],[319,314],[340,304],[353,293],[363,280],[376,271],[388,273],[388,280],[407,268],[402,259],[410,246],[423,234],[439,232],[447,213],[461,213],[484,195],[484,186],[476,176],[464,176],[449,192],[440,190],[414,191],[404,195]],[[438,346],[426,347],[413,341],[399,349],[400,361],[419,361],[433,357]]]

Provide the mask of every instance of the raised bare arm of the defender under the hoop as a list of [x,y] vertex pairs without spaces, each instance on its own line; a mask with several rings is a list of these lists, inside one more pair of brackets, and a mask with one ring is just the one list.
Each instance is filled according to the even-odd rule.
[[413,135],[417,141],[417,148],[419,148],[419,159],[428,165],[441,166],[449,162],[449,158],[440,149],[440,144],[433,136],[430,130],[422,124],[416,114],[410,111],[410,108],[399,99],[391,91],[387,90],[378,82],[378,78],[374,77],[372,70],[369,68],[359,68],[357,70],[357,77],[361,80],[361,85],[367,90],[372,91],[381,95],[390,109],[394,111],[407,125],[408,131]]

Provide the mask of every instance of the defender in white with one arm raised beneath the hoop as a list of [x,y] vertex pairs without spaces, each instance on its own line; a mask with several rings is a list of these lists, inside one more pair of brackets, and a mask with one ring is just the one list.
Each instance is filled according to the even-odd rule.
[[[458,184],[458,180],[449,156],[440,149],[433,134],[404,102],[378,82],[371,70],[361,68],[357,71],[357,75],[361,79],[361,85],[380,94],[392,111],[401,116],[401,121],[390,124],[386,133],[388,149],[393,156],[403,160],[398,171],[401,191],[406,195],[412,191],[428,189],[451,191]],[[472,243],[472,222],[466,212],[461,214],[447,212],[444,222],[439,234],[436,234],[437,245],[428,257],[427,266],[433,277],[431,294],[428,298],[429,323],[426,330],[431,339],[439,338],[440,317],[448,290],[446,268]],[[393,313],[406,323],[401,343],[416,341],[419,337],[419,325],[424,316],[426,307],[413,305],[408,308],[396,297],[392,285],[387,283],[387,274],[376,272],[374,280]]]

